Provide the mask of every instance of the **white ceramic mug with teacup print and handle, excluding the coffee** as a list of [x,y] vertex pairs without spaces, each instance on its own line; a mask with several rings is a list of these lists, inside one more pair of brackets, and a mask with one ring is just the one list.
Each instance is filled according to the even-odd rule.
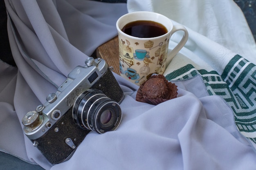
[[[130,22],[148,20],[164,25],[167,33],[152,38],[138,38],[121,31]],[[141,85],[147,77],[163,74],[166,68],[169,39],[176,31],[184,31],[184,35],[168,57],[175,56],[188,40],[189,33],[180,24],[174,25],[169,18],[159,13],[138,11],[127,13],[117,20],[119,38],[120,75],[130,82]]]

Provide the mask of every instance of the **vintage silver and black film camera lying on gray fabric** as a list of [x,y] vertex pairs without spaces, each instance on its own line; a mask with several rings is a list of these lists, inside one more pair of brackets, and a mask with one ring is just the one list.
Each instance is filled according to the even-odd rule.
[[89,57],[47,96],[47,102],[22,118],[25,135],[50,163],[69,159],[91,131],[115,130],[124,99],[117,80],[103,59]]

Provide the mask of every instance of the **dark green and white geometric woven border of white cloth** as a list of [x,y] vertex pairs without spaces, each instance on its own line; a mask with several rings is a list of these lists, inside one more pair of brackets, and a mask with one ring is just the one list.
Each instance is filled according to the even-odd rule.
[[256,143],[256,65],[235,55],[221,75],[214,70],[207,71],[186,64],[168,73],[166,78],[184,80],[196,75],[202,76],[209,95],[219,95],[225,99],[234,111],[238,130]]

